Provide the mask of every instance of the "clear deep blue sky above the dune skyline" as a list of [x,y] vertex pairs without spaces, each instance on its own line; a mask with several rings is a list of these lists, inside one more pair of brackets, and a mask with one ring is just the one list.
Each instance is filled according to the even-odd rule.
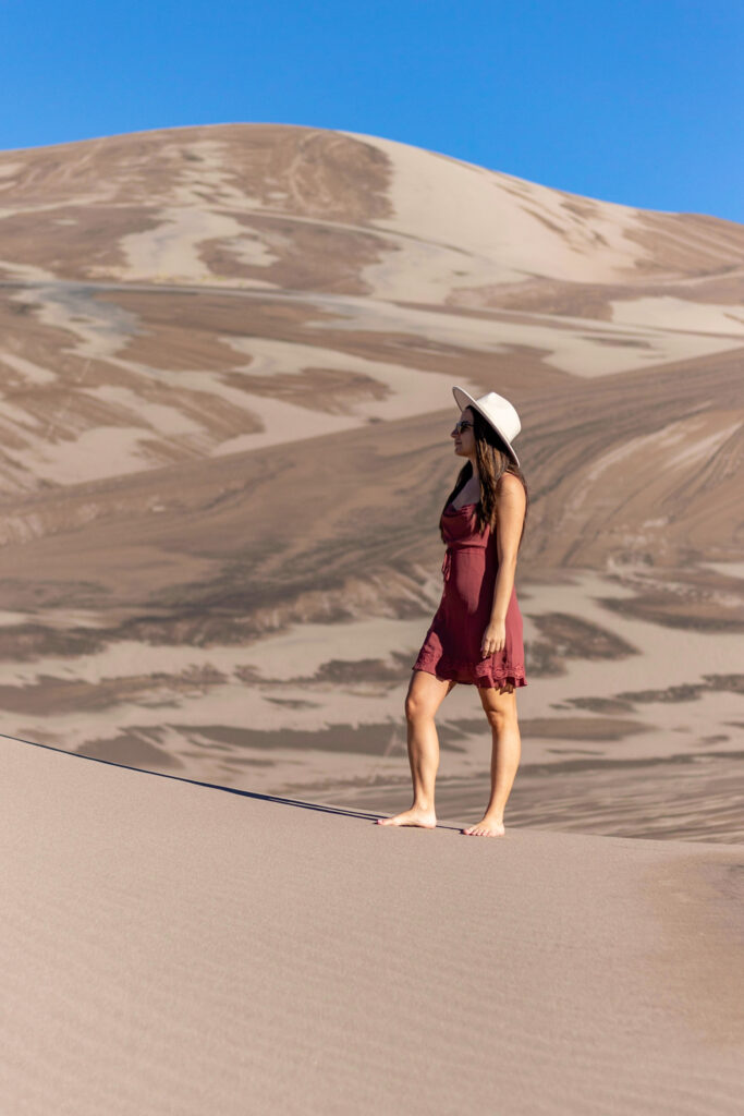
[[742,0],[0,0],[0,148],[271,122],[744,222]]

